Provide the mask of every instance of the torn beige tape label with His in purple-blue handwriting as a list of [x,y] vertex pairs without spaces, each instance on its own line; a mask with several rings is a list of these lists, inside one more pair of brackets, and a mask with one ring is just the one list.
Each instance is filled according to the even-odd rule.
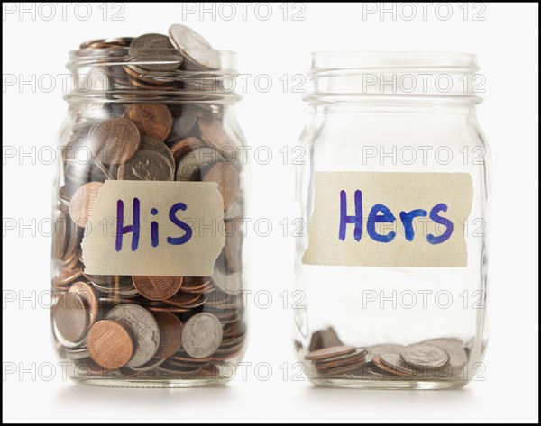
[[107,180],[82,242],[85,273],[212,276],[223,205],[214,182]]

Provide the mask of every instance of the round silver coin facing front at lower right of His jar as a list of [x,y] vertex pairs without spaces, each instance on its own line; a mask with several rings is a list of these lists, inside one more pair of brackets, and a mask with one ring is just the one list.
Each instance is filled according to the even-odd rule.
[[212,313],[197,313],[182,329],[182,348],[193,358],[210,357],[222,341],[222,323]]

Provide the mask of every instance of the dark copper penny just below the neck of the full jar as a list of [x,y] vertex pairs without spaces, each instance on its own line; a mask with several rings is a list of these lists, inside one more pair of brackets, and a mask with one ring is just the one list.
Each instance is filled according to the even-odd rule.
[[166,140],[173,125],[170,109],[164,104],[133,104],[125,118],[137,124],[145,136]]

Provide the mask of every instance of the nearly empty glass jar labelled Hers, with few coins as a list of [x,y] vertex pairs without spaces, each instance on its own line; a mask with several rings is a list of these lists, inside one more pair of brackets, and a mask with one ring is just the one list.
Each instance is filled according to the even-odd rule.
[[307,376],[416,389],[482,379],[490,162],[475,57],[323,52],[310,77],[295,280]]

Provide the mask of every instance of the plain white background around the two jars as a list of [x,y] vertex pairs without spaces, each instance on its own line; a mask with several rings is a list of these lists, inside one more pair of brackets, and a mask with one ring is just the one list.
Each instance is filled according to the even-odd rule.
[[[273,296],[268,309],[252,303],[250,341],[241,372],[225,387],[178,390],[110,389],[62,380],[50,343],[49,310],[37,295],[50,286],[50,238],[39,230],[4,229],[3,408],[4,421],[537,421],[538,412],[538,6],[446,6],[414,4],[392,14],[369,14],[367,4],[215,6],[215,14],[184,14],[199,4],[33,7],[8,4],[3,15],[3,217],[36,223],[50,216],[53,166],[39,150],[56,146],[66,114],[61,74],[68,51],[88,39],[167,33],[186,23],[217,49],[236,50],[239,70],[252,75],[237,114],[247,143],[271,147],[268,165],[252,158],[251,216],[269,218],[274,231],[252,232],[251,288]],[[52,5],[52,6],[51,6]],[[381,4],[372,4],[381,8]],[[479,6],[481,5],[481,6]],[[7,9],[6,9],[7,7]],[[52,7],[52,9],[51,9]],[[208,7],[208,6],[207,6]],[[284,16],[284,7],[289,11]],[[304,7],[304,10],[302,10]],[[392,7],[392,6],[388,6]],[[410,6],[408,6],[410,7]],[[443,8],[442,8],[443,7]],[[483,21],[473,20],[473,14]],[[469,11],[464,16],[464,8]],[[15,10],[14,13],[7,13]],[[107,15],[104,16],[104,11]],[[55,16],[50,19],[51,12]],[[293,13],[304,21],[293,20]],[[113,19],[113,14],[118,13]],[[124,18],[124,20],[118,20]],[[293,166],[283,165],[280,148],[294,147],[307,107],[301,94],[285,93],[280,77],[305,75],[316,50],[429,50],[478,54],[486,76],[485,102],[478,107],[481,129],[492,152],[490,324],[484,380],[462,390],[440,392],[357,391],[315,388],[293,380],[292,313],[279,294],[292,289],[293,238],[278,222],[291,218]],[[268,74],[263,93],[254,78]],[[50,90],[50,77],[56,76]],[[33,76],[33,77],[32,77]],[[14,80],[15,78],[15,80]],[[32,80],[33,78],[33,80]],[[22,81],[31,83],[20,86]],[[32,83],[33,81],[33,83]],[[261,80],[260,80],[261,82]],[[306,87],[306,85],[305,85]],[[242,91],[242,90],[241,90]],[[21,150],[32,156],[19,157]],[[43,151],[41,151],[43,154]],[[45,160],[47,160],[46,158]],[[40,161],[41,160],[41,161]],[[10,222],[13,223],[13,222]],[[21,236],[21,235],[22,236]],[[32,298],[32,291],[36,294]],[[33,299],[24,301],[22,297]],[[16,297],[14,301],[11,298]],[[37,300],[37,302],[36,302]],[[44,297],[43,301],[47,298]],[[32,306],[32,303],[35,306]],[[45,303],[41,303],[43,305]],[[269,363],[272,375],[261,363]],[[287,365],[284,365],[287,363]],[[281,366],[281,369],[280,369]],[[12,368],[13,374],[5,374]],[[26,373],[23,373],[23,370]],[[284,377],[284,370],[288,377]],[[53,371],[54,373],[54,371]],[[259,374],[259,378],[258,378]]]

